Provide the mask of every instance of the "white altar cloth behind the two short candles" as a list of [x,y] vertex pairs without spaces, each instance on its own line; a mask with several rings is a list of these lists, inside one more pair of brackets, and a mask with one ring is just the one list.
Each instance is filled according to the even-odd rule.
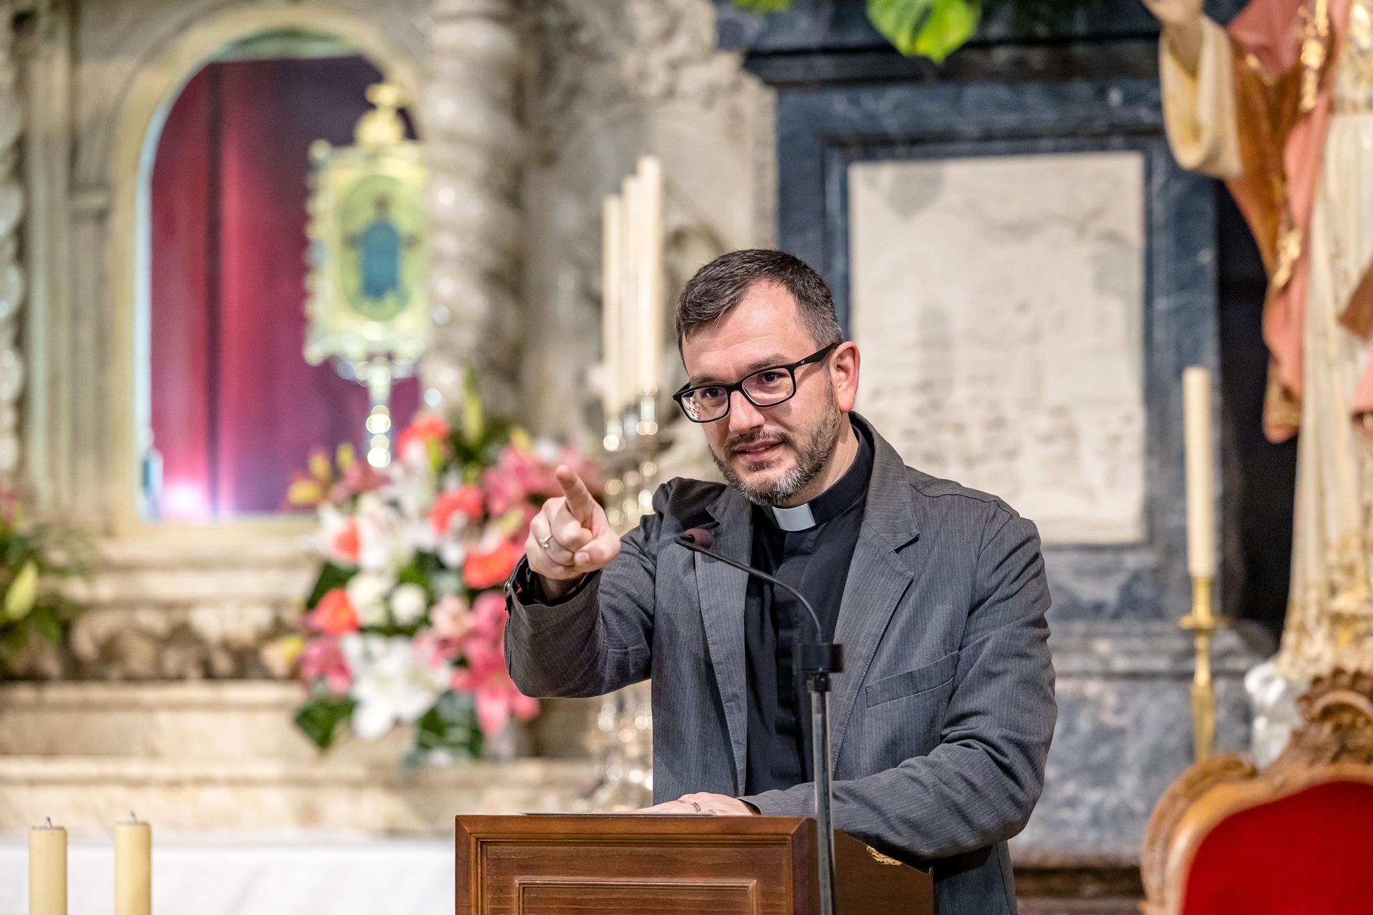
[[[27,834],[0,834],[0,915],[29,911]],[[114,839],[67,845],[67,911],[113,915]],[[154,915],[450,915],[453,841],[152,833]]]

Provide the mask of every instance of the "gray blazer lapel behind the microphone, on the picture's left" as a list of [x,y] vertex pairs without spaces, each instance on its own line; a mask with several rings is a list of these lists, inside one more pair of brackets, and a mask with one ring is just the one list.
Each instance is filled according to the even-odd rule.
[[[715,543],[711,550],[748,565],[752,558],[752,528],[748,503],[725,489],[711,503],[710,525]],[[748,741],[747,661],[744,658],[744,599],[748,576],[699,552],[693,554],[696,589],[700,595],[700,615],[710,648],[710,665],[715,670],[715,684],[725,706],[729,745],[735,754],[735,793],[744,790],[744,767]]]

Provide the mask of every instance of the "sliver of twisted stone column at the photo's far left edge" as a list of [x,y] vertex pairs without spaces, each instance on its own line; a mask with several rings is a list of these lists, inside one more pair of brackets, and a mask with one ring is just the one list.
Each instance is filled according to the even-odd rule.
[[19,98],[12,18],[12,4],[0,3],[0,474],[5,475],[19,466],[23,357],[19,353],[18,328],[26,279],[19,264],[19,223],[25,209],[19,176],[23,106]]

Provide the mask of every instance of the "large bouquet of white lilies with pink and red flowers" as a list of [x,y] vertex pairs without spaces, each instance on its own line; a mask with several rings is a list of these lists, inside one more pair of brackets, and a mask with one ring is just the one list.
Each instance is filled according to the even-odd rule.
[[343,447],[316,455],[288,492],[313,506],[323,565],[301,631],[268,662],[309,686],[295,721],[321,750],[347,727],[378,739],[415,727],[405,764],[478,756],[538,701],[505,672],[503,585],[524,554],[529,522],[559,495],[553,468],[595,470],[571,449],[486,422],[468,397],[450,427],[420,416],[376,471]]

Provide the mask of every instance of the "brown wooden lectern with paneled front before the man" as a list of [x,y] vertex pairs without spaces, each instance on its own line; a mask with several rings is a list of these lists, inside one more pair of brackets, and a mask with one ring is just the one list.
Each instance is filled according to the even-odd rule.
[[[930,915],[930,874],[835,833],[838,915]],[[800,816],[459,816],[457,915],[813,915]]]

